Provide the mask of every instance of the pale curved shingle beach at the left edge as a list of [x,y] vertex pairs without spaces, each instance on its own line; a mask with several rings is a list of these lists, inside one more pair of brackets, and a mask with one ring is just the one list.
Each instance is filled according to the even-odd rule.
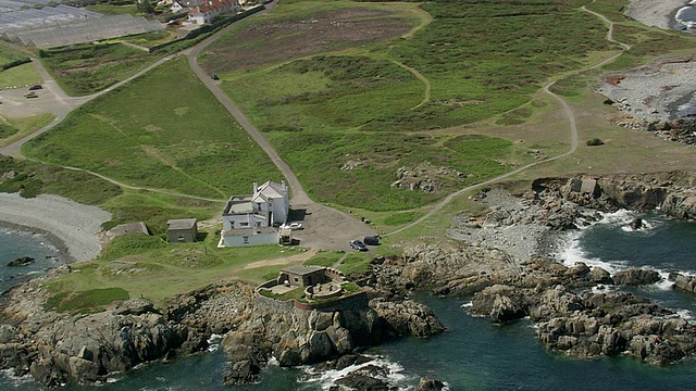
[[[61,252],[74,261],[99,255],[98,232],[111,214],[97,206],[83,205],[59,195],[40,194],[24,199],[18,193],[0,193],[0,222],[3,226],[30,227],[51,239]],[[52,240],[54,241],[54,240]]]

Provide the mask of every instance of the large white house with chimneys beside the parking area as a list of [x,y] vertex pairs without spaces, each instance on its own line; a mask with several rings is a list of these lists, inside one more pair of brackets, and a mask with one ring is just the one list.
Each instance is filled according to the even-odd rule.
[[253,181],[253,193],[232,195],[222,213],[223,247],[278,243],[276,226],[284,224],[290,211],[285,180]]

